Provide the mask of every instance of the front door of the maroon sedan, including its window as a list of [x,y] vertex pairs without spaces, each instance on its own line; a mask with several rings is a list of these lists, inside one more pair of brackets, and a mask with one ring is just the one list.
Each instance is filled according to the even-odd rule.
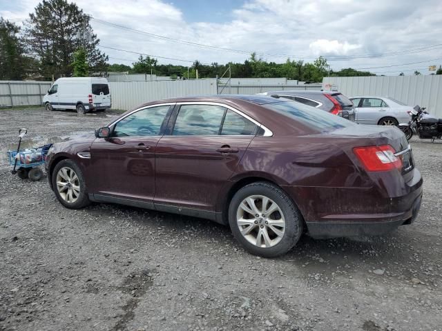
[[153,207],[155,148],[169,119],[171,104],[131,112],[111,126],[111,137],[97,138],[90,148],[98,201]]

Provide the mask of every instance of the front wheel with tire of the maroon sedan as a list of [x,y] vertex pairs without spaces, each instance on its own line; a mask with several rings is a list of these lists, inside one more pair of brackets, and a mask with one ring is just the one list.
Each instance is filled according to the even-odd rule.
[[70,159],[55,165],[52,172],[52,188],[57,199],[66,208],[80,209],[90,203],[83,172]]

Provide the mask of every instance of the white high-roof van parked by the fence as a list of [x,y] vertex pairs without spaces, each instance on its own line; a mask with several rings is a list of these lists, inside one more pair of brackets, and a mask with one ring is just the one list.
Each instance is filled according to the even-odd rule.
[[75,109],[79,113],[111,108],[111,93],[106,78],[59,78],[43,98],[46,110]]

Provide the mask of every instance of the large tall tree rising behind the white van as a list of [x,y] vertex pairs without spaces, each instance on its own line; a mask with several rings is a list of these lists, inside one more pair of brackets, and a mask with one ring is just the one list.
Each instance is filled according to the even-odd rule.
[[99,39],[90,26],[90,17],[77,4],[43,0],[29,17],[27,43],[37,54],[40,72],[46,79],[70,76],[73,54],[80,47],[86,50],[90,70],[106,70],[108,57],[97,48]]

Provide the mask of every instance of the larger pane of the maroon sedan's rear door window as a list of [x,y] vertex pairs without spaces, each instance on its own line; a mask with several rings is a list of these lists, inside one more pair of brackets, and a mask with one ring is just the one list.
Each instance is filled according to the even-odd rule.
[[175,121],[174,136],[218,135],[226,108],[214,105],[182,105]]

